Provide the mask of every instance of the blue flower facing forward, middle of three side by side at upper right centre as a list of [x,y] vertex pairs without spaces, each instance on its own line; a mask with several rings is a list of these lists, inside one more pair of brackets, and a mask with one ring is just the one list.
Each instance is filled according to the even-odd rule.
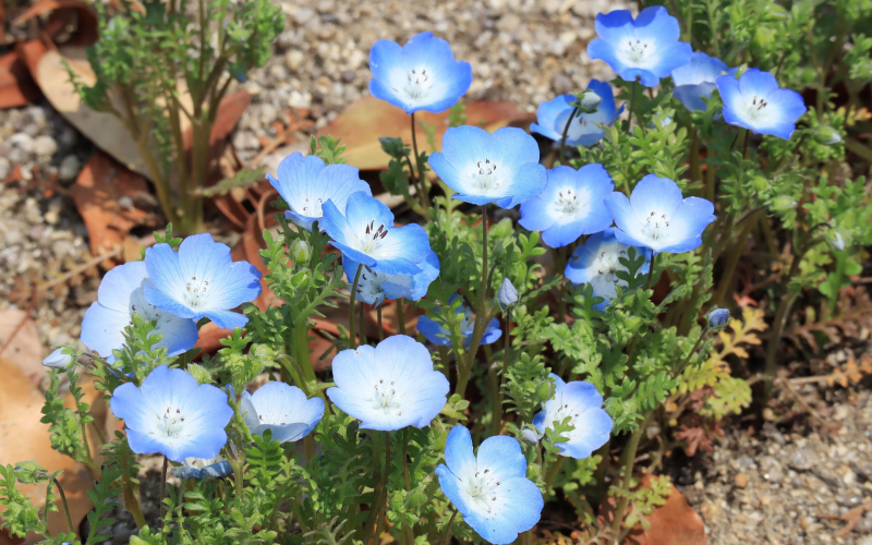
[[614,189],[611,177],[602,165],[585,165],[579,170],[556,167],[548,171],[548,183],[542,193],[521,204],[520,223],[530,231],[542,231],[545,244],[566,246],[582,234],[611,225],[611,214],[603,206],[603,199]]

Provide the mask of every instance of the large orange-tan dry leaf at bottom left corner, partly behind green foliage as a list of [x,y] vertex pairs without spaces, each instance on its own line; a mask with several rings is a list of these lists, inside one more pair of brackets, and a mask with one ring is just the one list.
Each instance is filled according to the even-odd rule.
[[[10,360],[0,358],[0,376],[3,377],[0,383],[0,460],[4,463],[35,460],[49,472],[63,470],[59,480],[66,494],[73,525],[78,529],[92,508],[85,494],[93,484],[90,472],[51,448],[49,425],[39,422],[45,397],[31,384],[24,372]],[[20,485],[20,489],[37,507],[45,505],[45,485]],[[60,505],[58,508],[59,511],[49,513],[49,531],[52,534],[66,530],[62,508]],[[0,513],[2,511],[3,506],[0,506]],[[29,541],[33,543],[36,540]]]

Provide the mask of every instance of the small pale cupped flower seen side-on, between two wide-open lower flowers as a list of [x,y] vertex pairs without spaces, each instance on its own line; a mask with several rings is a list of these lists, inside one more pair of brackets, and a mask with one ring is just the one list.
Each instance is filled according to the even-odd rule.
[[296,441],[312,433],[324,416],[324,400],[306,399],[303,390],[284,383],[267,383],[252,396],[242,392],[239,410],[252,435],[269,429],[279,443]]

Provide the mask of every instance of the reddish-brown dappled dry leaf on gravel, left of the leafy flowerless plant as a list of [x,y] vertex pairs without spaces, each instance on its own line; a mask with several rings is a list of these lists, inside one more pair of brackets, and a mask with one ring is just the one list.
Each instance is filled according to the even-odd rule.
[[95,256],[124,244],[134,227],[157,226],[155,211],[146,209],[149,193],[145,179],[104,153],[92,156],[71,193]]

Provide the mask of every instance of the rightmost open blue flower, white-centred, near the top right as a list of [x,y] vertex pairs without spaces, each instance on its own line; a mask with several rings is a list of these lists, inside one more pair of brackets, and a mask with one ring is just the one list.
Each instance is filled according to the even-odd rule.
[[724,121],[754,134],[790,140],[797,120],[806,113],[802,95],[778,87],[768,72],[751,69],[738,80],[722,75],[716,84],[724,101]]

